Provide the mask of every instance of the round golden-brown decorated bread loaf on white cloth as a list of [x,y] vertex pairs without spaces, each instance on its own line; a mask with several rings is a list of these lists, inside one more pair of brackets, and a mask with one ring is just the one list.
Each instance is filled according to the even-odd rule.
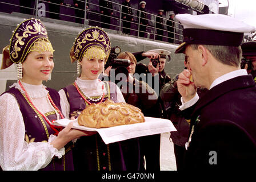
[[78,117],[79,125],[97,129],[141,122],[145,122],[145,118],[138,107],[108,99],[101,104],[87,106]]

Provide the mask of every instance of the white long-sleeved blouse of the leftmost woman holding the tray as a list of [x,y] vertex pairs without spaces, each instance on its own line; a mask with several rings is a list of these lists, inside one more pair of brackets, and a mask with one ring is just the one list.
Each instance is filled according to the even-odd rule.
[[[47,101],[48,90],[43,85],[30,85],[22,82],[37,109],[42,113],[53,111]],[[18,83],[15,87],[23,93]],[[61,158],[64,147],[57,150],[50,143],[55,139],[50,135],[48,142],[25,141],[25,125],[16,98],[9,93],[0,96],[0,165],[3,170],[38,170],[46,167],[53,156]]]

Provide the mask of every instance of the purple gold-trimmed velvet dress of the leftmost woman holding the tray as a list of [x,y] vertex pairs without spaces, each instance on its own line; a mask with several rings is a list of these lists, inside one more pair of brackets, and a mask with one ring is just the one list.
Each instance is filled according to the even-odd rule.
[[[52,98],[54,104],[61,110],[60,97],[56,90],[46,88],[49,90],[50,97]],[[11,88],[5,93],[12,94],[19,104],[19,109],[21,110],[23,121],[25,124],[25,140],[26,142],[47,142],[51,134],[55,131],[51,129],[50,125],[45,121],[45,119],[37,114],[37,111],[29,105],[29,101],[22,95],[22,93],[15,88]],[[45,113],[46,117],[50,121],[57,119],[57,115],[54,112]],[[61,159],[58,157],[53,158],[51,163],[45,168],[41,169],[43,171],[65,171],[74,170],[73,166],[73,155],[71,152],[71,147],[73,144],[68,143],[65,146],[65,155]]]

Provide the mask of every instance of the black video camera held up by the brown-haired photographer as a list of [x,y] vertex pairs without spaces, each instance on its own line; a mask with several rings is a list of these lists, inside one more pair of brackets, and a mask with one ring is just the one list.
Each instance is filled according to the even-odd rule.
[[[126,78],[129,76],[129,72],[126,69],[130,65],[130,60],[127,59],[118,59],[117,56],[121,52],[121,48],[119,46],[112,47],[109,54],[109,59],[105,64],[105,69],[108,67],[112,67],[111,69],[115,69],[115,77],[118,73],[123,73],[126,75]],[[110,71],[111,74],[111,71]]]

